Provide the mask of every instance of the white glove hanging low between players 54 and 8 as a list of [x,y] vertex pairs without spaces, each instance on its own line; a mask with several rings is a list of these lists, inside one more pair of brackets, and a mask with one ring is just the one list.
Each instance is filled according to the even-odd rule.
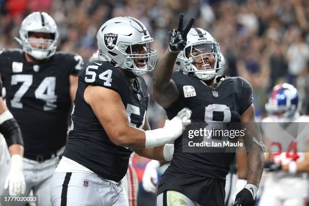
[[147,192],[156,193],[156,184],[158,183],[157,169],[160,167],[160,163],[157,160],[151,160],[145,167],[143,175],[143,188]]

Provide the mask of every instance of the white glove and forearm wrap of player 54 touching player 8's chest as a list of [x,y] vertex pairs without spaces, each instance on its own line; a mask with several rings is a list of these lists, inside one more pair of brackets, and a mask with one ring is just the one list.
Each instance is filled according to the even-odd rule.
[[191,123],[191,110],[183,108],[171,121],[166,122],[163,128],[145,131],[145,148],[164,145],[177,139],[182,130]]

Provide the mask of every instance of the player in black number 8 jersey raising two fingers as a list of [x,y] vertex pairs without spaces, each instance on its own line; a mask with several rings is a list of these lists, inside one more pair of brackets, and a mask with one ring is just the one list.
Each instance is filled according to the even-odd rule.
[[[191,29],[193,21],[182,29],[181,14],[178,29],[169,32],[169,49],[153,75],[155,99],[169,118],[188,107],[192,123],[255,122],[251,85],[241,77],[216,77],[221,67],[219,44],[207,31]],[[173,73],[175,63],[179,71]],[[261,137],[253,129],[250,132]],[[235,205],[254,205],[263,172],[263,145],[249,138],[248,182]],[[224,205],[225,177],[235,152],[182,152],[182,138],[174,147],[171,165],[159,183],[157,205]]]

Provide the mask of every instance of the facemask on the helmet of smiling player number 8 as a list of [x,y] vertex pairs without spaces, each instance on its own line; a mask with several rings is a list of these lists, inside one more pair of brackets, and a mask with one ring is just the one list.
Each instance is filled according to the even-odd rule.
[[[216,76],[221,68],[220,46],[217,42],[205,42],[201,44],[192,44],[185,48],[184,70],[187,74],[194,74],[201,80],[211,80]],[[214,57],[214,63],[207,61]],[[206,57],[208,56],[208,57]],[[200,68],[196,68],[193,63],[200,62]],[[211,64],[212,65],[211,65]]]

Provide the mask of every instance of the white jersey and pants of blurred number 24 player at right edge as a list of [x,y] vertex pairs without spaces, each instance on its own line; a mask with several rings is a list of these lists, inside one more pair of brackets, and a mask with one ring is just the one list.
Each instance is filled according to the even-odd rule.
[[[272,122],[280,122],[280,124]],[[282,124],[282,122],[284,123]],[[305,145],[308,142],[305,133],[308,131],[306,125],[309,125],[305,123],[309,122],[309,117],[298,116],[290,122],[287,119],[278,119],[277,117],[267,117],[262,121],[263,131],[269,140],[270,146],[268,148],[272,152],[271,160],[276,163],[289,164],[291,161],[301,162],[304,159],[302,152],[305,151]],[[266,123],[264,127],[263,123]],[[287,132],[289,126],[294,127],[293,131],[296,128],[297,133],[292,134],[291,130]],[[307,196],[306,176],[306,173],[270,172],[265,180],[259,205],[305,205]]]

